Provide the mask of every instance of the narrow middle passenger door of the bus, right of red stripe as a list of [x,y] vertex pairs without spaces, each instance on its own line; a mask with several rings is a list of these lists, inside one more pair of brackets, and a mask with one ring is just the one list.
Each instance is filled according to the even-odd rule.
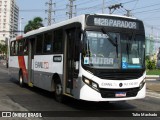
[[35,49],[35,38],[29,39],[29,50],[28,50],[28,85],[33,86],[34,83],[34,49]]

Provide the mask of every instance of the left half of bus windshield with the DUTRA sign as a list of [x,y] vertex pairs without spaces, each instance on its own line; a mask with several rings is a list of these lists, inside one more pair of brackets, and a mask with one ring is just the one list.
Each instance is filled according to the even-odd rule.
[[97,68],[120,68],[119,33],[86,31],[83,64]]

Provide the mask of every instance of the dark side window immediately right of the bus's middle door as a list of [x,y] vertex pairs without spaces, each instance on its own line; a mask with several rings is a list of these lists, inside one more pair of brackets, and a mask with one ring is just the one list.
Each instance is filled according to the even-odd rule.
[[43,34],[37,36],[36,54],[42,54]]

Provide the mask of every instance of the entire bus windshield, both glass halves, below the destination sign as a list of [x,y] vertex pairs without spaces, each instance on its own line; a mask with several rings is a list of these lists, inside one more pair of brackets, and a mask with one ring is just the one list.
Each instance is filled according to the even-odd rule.
[[140,35],[86,31],[82,63],[104,69],[140,69],[144,67],[144,38]]

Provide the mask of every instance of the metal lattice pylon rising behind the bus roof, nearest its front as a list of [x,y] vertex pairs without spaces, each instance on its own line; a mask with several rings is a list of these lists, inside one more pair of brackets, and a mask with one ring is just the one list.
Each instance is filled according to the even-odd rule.
[[75,11],[76,11],[76,5],[73,4],[74,1],[75,0],[69,0],[70,3],[67,4],[67,8],[69,7],[69,10],[68,12],[66,12],[66,14],[69,15],[69,19],[73,17],[73,14],[76,16],[76,12],[73,12],[74,11],[73,8],[75,8]]

